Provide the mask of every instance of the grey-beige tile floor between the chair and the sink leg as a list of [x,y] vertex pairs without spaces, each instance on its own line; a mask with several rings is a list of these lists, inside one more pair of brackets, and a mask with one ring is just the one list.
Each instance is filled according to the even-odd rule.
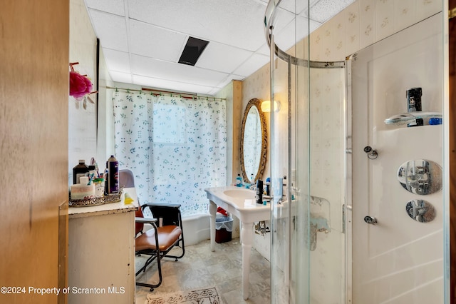
[[[224,304],[269,303],[270,265],[269,261],[252,248],[250,263],[249,299],[242,298],[242,249],[239,238],[230,242],[215,244],[210,250],[210,241],[204,240],[197,245],[185,247],[183,258],[175,262],[162,260],[163,282],[152,293],[168,293],[216,285],[222,294]],[[138,263],[143,257],[137,257]],[[145,274],[137,280],[157,281],[156,263],[152,263]],[[136,303],[145,303],[149,288],[136,286]]]

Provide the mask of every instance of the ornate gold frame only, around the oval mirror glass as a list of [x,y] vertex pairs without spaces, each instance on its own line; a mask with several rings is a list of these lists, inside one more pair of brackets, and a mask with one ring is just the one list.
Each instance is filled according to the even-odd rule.
[[266,119],[264,117],[263,111],[261,111],[261,101],[258,98],[252,98],[247,103],[247,106],[244,111],[244,117],[242,118],[242,128],[241,128],[241,171],[242,171],[242,178],[244,182],[249,181],[249,176],[247,176],[247,172],[245,171],[244,165],[244,131],[245,131],[245,123],[247,121],[247,116],[249,114],[250,108],[252,106],[256,107],[259,114],[259,120],[261,123],[261,154],[259,159],[259,166],[257,170],[257,174],[255,175],[255,181],[257,181],[261,176],[263,176],[264,168],[266,167],[266,155],[268,152],[268,135],[267,135],[267,128],[266,128]]

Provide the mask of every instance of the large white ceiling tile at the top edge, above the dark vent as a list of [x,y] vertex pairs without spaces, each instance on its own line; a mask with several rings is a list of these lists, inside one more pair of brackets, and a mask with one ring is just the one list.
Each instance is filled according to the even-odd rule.
[[263,31],[265,9],[264,4],[245,0],[129,1],[132,19],[249,51],[264,43],[258,33]]

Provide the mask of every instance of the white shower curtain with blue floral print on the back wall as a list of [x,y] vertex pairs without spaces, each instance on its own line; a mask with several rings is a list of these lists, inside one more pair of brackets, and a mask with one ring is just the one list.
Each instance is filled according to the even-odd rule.
[[113,101],[116,156],[135,174],[141,203],[207,213],[204,188],[227,182],[225,101],[128,92]]

